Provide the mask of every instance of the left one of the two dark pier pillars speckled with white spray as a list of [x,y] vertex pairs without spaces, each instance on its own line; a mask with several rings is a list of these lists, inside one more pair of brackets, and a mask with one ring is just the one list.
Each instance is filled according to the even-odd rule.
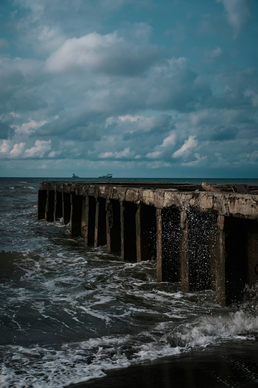
[[179,212],[157,209],[157,279],[160,282],[178,282],[180,275]]

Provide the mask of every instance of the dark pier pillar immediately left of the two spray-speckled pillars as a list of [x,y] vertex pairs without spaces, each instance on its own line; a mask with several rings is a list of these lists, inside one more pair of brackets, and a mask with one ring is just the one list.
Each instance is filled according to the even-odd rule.
[[136,212],[137,262],[156,258],[156,208],[138,204]]

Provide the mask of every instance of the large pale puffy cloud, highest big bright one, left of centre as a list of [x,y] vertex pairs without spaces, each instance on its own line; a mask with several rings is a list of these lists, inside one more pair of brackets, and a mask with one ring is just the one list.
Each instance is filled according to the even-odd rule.
[[101,35],[89,33],[67,39],[46,60],[46,71],[60,73],[72,70],[107,74],[135,74],[157,59],[156,46],[126,41],[118,31]]

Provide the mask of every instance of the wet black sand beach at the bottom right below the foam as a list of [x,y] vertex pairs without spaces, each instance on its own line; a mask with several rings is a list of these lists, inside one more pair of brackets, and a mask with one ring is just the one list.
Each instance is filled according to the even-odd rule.
[[69,388],[258,387],[258,341],[228,342],[181,355],[106,371],[106,377]]

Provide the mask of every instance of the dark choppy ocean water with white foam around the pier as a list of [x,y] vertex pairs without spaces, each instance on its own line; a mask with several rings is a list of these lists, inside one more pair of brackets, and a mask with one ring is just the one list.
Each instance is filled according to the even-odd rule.
[[[85,247],[69,225],[37,220],[43,180],[71,178],[0,178],[2,388],[63,387],[110,369],[256,341],[257,289],[246,290],[248,302],[221,308],[211,290],[182,293],[179,283],[157,283],[154,261],[122,262],[106,246]],[[255,373],[248,378],[258,381]]]

